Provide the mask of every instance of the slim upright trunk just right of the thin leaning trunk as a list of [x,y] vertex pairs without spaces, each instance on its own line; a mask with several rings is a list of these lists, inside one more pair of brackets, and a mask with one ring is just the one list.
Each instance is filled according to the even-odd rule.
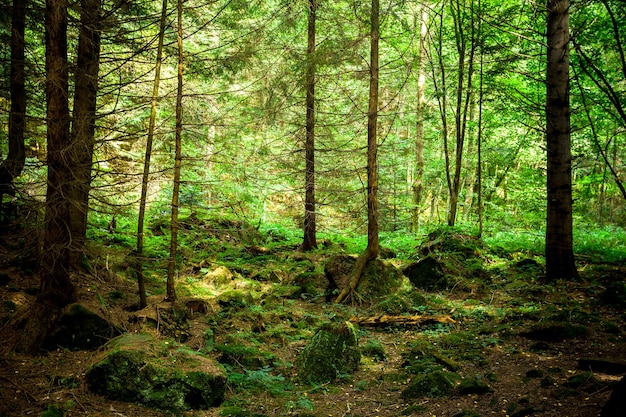
[[167,301],[176,300],[175,269],[178,249],[178,195],[183,132],[183,0],[178,0],[178,90],[176,92],[176,156],[174,158],[174,190],[172,191],[172,221],[170,225],[170,258],[167,265]]

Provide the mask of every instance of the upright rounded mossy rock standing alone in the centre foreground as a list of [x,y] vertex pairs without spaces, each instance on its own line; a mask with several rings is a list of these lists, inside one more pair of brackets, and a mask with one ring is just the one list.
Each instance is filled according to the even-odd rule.
[[354,372],[361,360],[356,331],[349,322],[326,323],[296,360],[298,379],[324,384]]

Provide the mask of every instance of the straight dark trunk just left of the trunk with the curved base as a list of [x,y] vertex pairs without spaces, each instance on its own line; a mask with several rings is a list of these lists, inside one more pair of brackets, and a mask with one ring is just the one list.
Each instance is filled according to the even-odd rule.
[[317,247],[315,219],[315,23],[317,0],[309,0],[308,46],[306,69],[306,143],[305,143],[305,197],[304,241],[302,250]]

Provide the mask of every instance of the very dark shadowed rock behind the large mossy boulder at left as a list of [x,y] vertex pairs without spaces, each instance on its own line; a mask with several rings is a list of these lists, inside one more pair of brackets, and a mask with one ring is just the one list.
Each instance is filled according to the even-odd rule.
[[72,304],[61,314],[56,329],[46,337],[42,348],[92,350],[120,334],[122,330],[98,312],[82,304]]

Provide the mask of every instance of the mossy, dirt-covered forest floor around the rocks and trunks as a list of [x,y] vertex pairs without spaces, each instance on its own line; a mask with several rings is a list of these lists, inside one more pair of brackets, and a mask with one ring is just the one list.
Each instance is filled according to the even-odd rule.
[[[503,264],[494,266],[491,259],[481,265],[488,277],[466,275],[458,278],[462,284],[438,292],[411,290],[420,293],[421,305],[411,305],[405,297],[392,299],[393,307],[387,302],[383,308],[381,304],[337,305],[319,294],[294,295],[294,286],[286,283],[302,272],[297,265],[308,265],[308,270],[323,277],[320,271],[332,251],[302,254],[277,247],[254,252],[248,247],[243,252],[248,254],[244,265],[233,257],[220,258],[230,260],[226,266],[215,258],[203,265],[189,262],[187,277],[179,278],[180,298],[202,299],[210,308],[192,313],[170,335],[136,323],[138,313],[132,308],[136,291],[123,268],[110,268],[103,261],[94,263],[91,273],[75,277],[81,302],[105,311],[107,319],[125,330],[151,331],[163,338],[178,334],[181,343],[224,363],[228,371],[224,403],[178,415],[595,417],[612,386],[626,373],[622,368],[626,312],[623,304],[615,304],[623,300],[607,295],[612,282],[626,279],[624,264],[580,261],[578,281],[547,285],[536,277],[537,270],[516,269],[514,260],[519,258],[508,254]],[[110,259],[108,255],[102,259],[111,262],[114,253],[112,249]],[[391,262],[401,267],[408,261]],[[97,350],[54,349],[39,356],[12,351],[19,329],[11,323],[34,300],[38,282],[36,275],[21,273],[8,262],[3,265],[0,417],[173,415],[93,394],[85,373]],[[220,285],[215,281],[208,285],[206,277],[217,270],[233,276]],[[162,281],[151,282],[153,292],[162,291]],[[162,300],[162,294],[152,295],[148,308]],[[454,323],[361,326],[358,371],[325,384],[297,382],[295,359],[321,323],[383,313],[446,315]],[[208,329],[213,335],[209,348]],[[248,353],[224,361],[230,352],[227,346],[237,343],[246,346]],[[592,362],[590,369],[589,362],[581,359],[605,360],[616,368]],[[486,388],[463,394],[442,394],[433,388],[415,398],[403,394],[420,374],[432,370],[454,372],[481,381]]]

